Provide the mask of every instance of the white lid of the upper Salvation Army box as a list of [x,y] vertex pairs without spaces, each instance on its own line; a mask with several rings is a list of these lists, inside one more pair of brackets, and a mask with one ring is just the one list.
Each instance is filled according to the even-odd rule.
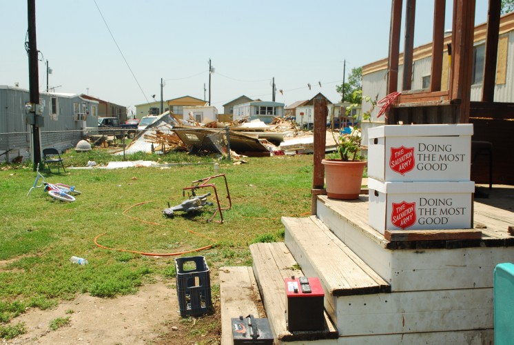
[[384,125],[368,129],[369,138],[473,135],[473,124]]

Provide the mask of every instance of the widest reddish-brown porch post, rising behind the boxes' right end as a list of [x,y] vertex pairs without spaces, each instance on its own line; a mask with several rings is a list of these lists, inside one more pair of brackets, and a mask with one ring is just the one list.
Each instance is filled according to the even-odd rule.
[[453,1],[451,100],[460,99],[459,122],[469,122],[475,0]]

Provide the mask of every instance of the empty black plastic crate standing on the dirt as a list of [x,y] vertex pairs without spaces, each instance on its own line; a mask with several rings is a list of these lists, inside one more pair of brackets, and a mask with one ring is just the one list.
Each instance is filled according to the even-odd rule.
[[[194,268],[187,269],[189,266]],[[178,257],[175,269],[181,316],[211,313],[211,278],[205,257]]]

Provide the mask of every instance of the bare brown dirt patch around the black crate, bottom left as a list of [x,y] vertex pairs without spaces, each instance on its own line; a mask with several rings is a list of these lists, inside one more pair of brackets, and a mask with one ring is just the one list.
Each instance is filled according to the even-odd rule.
[[[214,301],[213,306],[217,309],[213,315],[181,322],[176,288],[163,282],[114,299],[79,295],[51,310],[30,309],[12,319],[12,325],[25,322],[27,333],[0,339],[0,344],[219,344],[219,327],[207,334],[191,332],[195,324],[219,325],[219,306]],[[70,324],[50,330],[52,320],[68,316]]]

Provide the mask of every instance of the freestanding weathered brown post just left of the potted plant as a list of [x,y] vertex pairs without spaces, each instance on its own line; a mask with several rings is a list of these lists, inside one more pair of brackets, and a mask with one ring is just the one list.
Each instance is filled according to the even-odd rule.
[[325,185],[325,168],[321,160],[325,158],[325,143],[327,137],[327,99],[318,95],[314,98],[314,171],[312,188],[323,189]]

